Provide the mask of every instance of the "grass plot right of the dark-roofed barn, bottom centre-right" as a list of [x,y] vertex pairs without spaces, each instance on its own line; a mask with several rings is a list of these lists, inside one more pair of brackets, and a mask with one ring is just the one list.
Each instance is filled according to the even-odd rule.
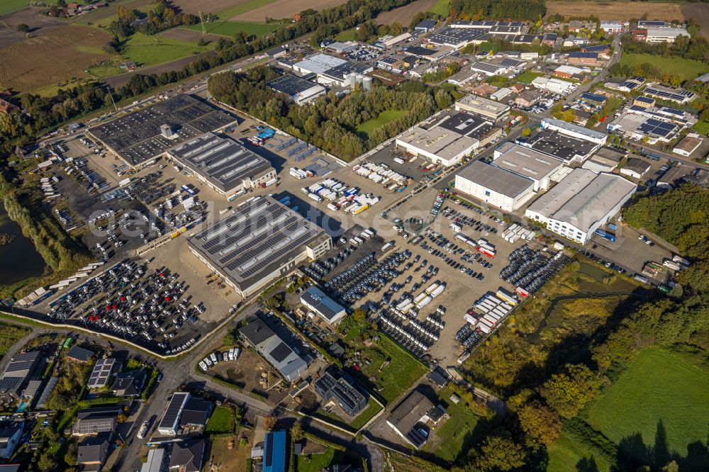
[[443,388],[438,393],[440,402],[447,405],[446,412],[450,418],[432,431],[432,438],[423,448],[423,451],[450,463],[454,462],[459,454],[466,454],[486,434],[486,427],[479,422],[479,417],[467,408],[464,401],[456,405],[450,400],[452,393],[450,388]]

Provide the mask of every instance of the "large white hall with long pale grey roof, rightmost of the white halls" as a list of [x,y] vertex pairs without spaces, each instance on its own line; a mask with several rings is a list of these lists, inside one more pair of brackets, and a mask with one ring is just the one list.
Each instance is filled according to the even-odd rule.
[[577,168],[533,201],[525,217],[584,245],[620,211],[635,189],[622,176]]

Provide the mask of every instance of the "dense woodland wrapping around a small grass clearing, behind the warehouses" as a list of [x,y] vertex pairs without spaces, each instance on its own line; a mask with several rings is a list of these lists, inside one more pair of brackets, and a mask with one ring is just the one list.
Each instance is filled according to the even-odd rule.
[[[209,79],[209,93],[223,103],[345,160],[359,156],[453,103],[446,89],[410,82],[398,89],[378,86],[364,91],[357,87],[343,97],[330,92],[314,103],[300,106],[290,103],[289,97],[265,84],[278,76],[267,66],[255,67],[245,74],[216,74]],[[368,136],[357,133],[357,125],[386,110],[408,113],[376,128]]]

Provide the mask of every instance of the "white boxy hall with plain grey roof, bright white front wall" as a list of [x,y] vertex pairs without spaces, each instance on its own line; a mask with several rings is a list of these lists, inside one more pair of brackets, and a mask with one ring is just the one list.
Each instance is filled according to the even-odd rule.
[[472,162],[455,176],[455,190],[507,213],[535,195],[531,179],[482,161]]

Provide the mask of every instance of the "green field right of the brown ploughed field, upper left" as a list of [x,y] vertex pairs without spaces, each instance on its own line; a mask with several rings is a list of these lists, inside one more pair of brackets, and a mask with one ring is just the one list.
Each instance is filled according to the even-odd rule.
[[143,33],[135,33],[126,42],[123,55],[134,60],[138,65],[152,66],[206,52],[213,48],[212,43],[198,46],[196,43],[162,38],[160,35],[146,36]]

